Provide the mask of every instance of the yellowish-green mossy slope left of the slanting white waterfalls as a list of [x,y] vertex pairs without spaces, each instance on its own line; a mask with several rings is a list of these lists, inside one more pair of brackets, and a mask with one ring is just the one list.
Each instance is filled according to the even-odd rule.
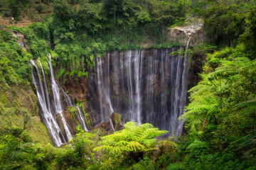
[[[4,88],[1,88],[4,86]],[[29,84],[0,87],[0,124],[5,128],[22,128],[33,141],[51,143],[46,126],[39,118],[38,100]]]

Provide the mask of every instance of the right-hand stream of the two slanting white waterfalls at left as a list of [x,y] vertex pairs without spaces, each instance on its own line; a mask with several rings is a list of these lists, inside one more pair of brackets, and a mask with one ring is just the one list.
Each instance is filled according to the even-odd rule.
[[61,120],[63,122],[63,127],[65,129],[65,132],[67,134],[68,140],[72,140],[72,135],[71,135],[71,130],[68,126],[68,123],[66,123],[65,118],[63,116],[63,105],[61,101],[61,95],[60,95],[60,89],[58,88],[58,84],[55,82],[54,74],[53,74],[53,66],[51,64],[51,58],[50,58],[50,53],[49,53],[49,66],[50,66],[50,79],[51,79],[51,85],[53,89],[53,101],[54,101],[54,106],[55,106],[55,113],[60,114]]

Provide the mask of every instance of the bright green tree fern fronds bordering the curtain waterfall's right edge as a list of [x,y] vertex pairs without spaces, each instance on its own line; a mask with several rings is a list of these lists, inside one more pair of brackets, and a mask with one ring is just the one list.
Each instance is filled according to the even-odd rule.
[[[229,63],[230,61],[228,61]],[[203,120],[208,117],[214,117],[220,112],[223,101],[222,93],[229,81],[225,79],[227,75],[237,74],[235,69],[226,66],[225,64],[215,69],[215,72],[209,74],[199,74],[202,80],[197,86],[191,88],[188,92],[191,93],[191,103],[185,109],[185,113],[181,119],[187,121],[187,128],[191,132],[201,130]]]

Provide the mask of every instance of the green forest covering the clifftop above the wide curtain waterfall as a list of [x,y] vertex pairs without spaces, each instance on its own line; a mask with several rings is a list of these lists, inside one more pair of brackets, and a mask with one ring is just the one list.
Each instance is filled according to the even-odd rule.
[[53,8],[45,23],[11,29],[25,35],[34,59],[46,61],[47,53],[54,50],[53,58],[58,58],[60,66],[57,75],[63,83],[74,74],[87,77],[94,67],[92,57],[105,51],[141,49],[150,47],[149,42],[158,48],[179,45],[166,40],[163,30],[183,21],[191,4],[183,0],[1,2],[2,14],[17,20],[28,14],[26,10],[43,14],[47,7]]

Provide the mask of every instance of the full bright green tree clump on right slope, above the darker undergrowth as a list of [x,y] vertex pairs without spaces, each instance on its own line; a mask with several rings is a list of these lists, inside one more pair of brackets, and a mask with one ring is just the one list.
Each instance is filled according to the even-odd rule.
[[[202,130],[206,121],[213,119],[215,125],[223,121],[223,114],[243,100],[252,96],[251,87],[246,86],[246,75],[253,70],[253,61],[243,57],[241,49],[225,48],[208,54],[202,80],[191,88],[190,101],[181,118],[188,121],[187,127],[193,133]],[[209,73],[210,72],[210,73]],[[250,75],[250,74],[249,74]],[[251,84],[250,84],[251,86]],[[204,123],[203,123],[204,122]]]

